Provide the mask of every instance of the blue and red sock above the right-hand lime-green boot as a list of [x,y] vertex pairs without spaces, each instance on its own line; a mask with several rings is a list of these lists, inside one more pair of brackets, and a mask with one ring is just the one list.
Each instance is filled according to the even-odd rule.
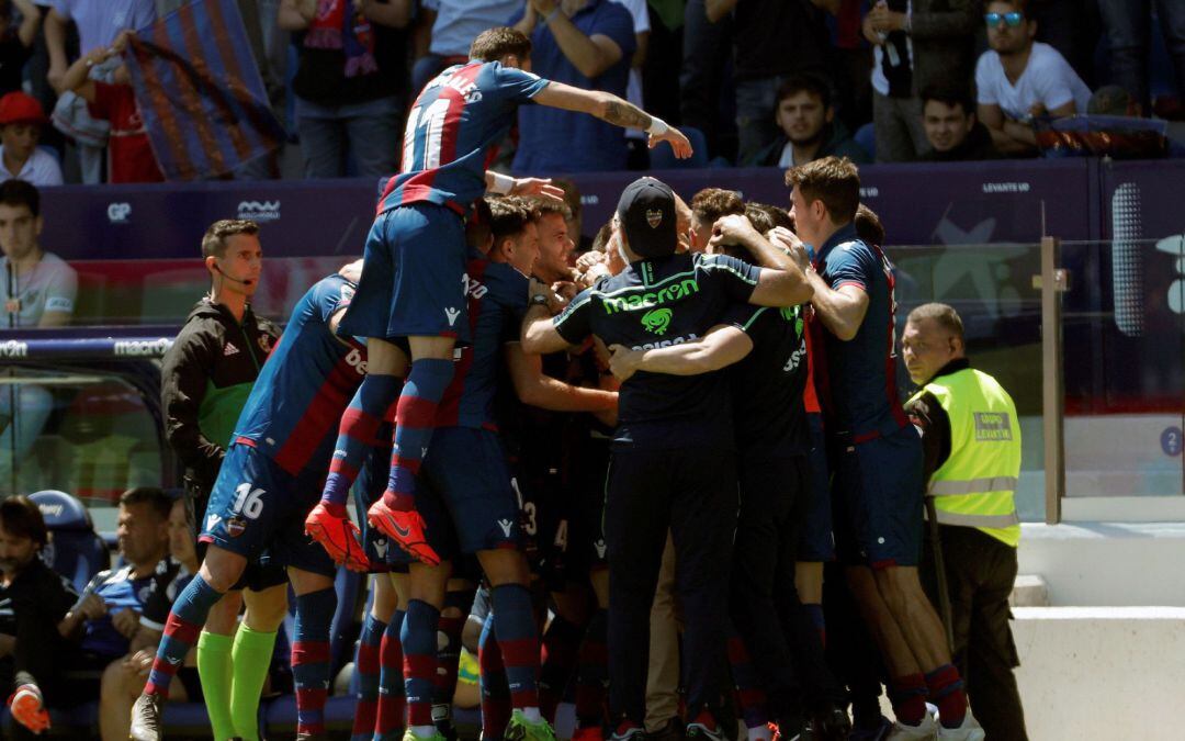
[[523,585],[502,585],[489,590],[489,599],[511,703],[515,708],[538,708],[539,631],[531,593]]

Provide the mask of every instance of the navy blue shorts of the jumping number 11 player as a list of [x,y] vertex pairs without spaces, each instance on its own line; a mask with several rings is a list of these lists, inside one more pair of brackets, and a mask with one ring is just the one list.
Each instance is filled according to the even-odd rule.
[[339,333],[468,343],[466,250],[465,222],[444,206],[416,203],[380,213]]

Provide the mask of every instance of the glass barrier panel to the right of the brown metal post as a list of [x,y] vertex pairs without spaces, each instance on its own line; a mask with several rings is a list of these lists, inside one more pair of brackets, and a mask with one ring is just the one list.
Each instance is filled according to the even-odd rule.
[[1068,497],[1185,494],[1185,238],[1065,242]]

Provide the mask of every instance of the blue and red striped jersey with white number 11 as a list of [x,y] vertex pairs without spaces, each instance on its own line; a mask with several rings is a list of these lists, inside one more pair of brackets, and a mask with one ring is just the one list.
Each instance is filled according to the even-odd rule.
[[383,189],[378,212],[428,202],[466,213],[486,192],[489,155],[510,132],[519,104],[546,87],[546,79],[498,62],[441,72],[408,114],[399,174]]

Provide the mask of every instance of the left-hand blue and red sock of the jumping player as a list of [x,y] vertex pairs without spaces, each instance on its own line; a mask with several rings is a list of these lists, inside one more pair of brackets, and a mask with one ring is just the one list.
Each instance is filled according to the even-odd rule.
[[338,441],[333,446],[329,475],[325,479],[321,502],[345,506],[350,487],[358,478],[358,471],[371,448],[380,445],[376,440],[383,421],[391,416],[391,408],[399,395],[398,376],[366,376],[350,400],[338,426]]

